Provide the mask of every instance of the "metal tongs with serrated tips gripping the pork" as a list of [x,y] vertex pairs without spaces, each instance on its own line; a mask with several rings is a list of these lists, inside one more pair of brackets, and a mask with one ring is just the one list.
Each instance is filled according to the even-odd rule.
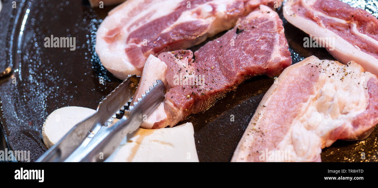
[[[165,86],[156,80],[149,91],[129,106],[140,77],[129,76],[103,99],[95,114],[75,125],[37,162],[102,162],[124,137],[134,132],[164,99]],[[107,126],[119,117],[118,122]]]

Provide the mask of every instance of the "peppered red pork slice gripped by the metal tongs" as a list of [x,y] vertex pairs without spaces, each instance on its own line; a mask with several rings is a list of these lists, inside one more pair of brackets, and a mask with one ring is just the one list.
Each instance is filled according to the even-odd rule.
[[190,114],[206,110],[244,80],[262,74],[278,75],[291,65],[282,20],[264,5],[194,55],[195,59],[190,50],[163,52],[158,58],[150,55],[145,70],[161,70],[143,71],[139,86],[147,87],[162,79],[167,83],[167,93],[143,128],[172,127]]

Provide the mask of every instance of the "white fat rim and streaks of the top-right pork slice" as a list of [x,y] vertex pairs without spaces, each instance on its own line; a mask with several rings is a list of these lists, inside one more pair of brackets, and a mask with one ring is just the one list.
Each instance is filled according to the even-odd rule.
[[[344,40],[342,37],[337,35],[335,32],[332,32],[325,28],[324,26],[319,26],[316,22],[313,22],[305,17],[298,16],[296,14],[293,14],[292,5],[297,2],[297,0],[288,0],[283,5],[283,16],[286,18],[286,20],[296,26],[297,28],[301,29],[302,31],[306,32],[307,34],[313,35],[313,37],[329,37],[330,39],[333,37],[335,39],[335,46],[334,50],[329,50],[327,48],[328,52],[330,52],[333,57],[335,57],[339,62],[341,63],[348,63],[351,60],[354,60],[359,65],[363,66],[363,68],[366,71],[372,72],[373,74],[378,74],[378,59],[373,57],[372,55],[366,54],[365,52],[361,51],[359,48],[356,48],[355,46],[351,45],[349,42]],[[313,5],[314,1],[306,1],[301,0],[306,8],[309,8],[311,11],[314,12],[314,14],[318,14],[321,16],[325,16],[327,18],[331,18],[333,20],[336,20],[340,23],[345,23],[345,20],[341,20],[339,18],[329,17],[325,15],[322,12],[315,11],[314,9],[310,8],[311,5]],[[378,47],[378,42],[372,39],[371,37],[361,34],[355,29],[355,25],[353,26],[352,31],[355,34],[358,34],[359,36],[369,39],[369,41],[374,41],[374,43]],[[325,46],[330,46],[328,40],[325,40]]]

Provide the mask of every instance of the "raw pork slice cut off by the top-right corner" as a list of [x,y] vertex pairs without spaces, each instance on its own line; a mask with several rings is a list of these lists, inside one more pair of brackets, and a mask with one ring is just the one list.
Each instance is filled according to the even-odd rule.
[[313,37],[341,63],[355,61],[378,74],[378,19],[339,0],[288,0],[286,20]]

